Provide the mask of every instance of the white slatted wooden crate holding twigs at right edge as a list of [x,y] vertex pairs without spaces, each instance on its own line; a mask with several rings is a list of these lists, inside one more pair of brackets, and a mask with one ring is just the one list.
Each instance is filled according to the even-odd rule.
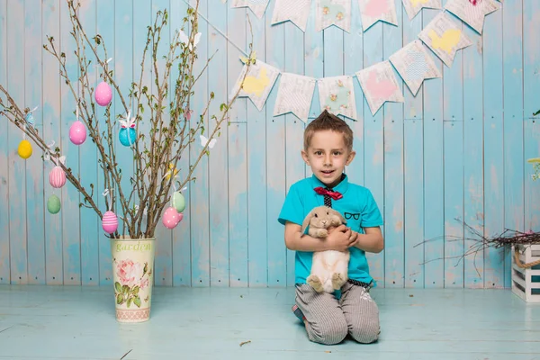
[[[540,244],[519,246],[519,260],[523,264],[540,259]],[[524,269],[516,265],[512,247],[512,293],[526,302],[540,302],[540,265]]]

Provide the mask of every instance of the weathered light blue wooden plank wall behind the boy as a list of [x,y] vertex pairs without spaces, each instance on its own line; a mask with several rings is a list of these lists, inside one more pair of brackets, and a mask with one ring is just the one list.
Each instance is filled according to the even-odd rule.
[[[416,40],[440,12],[424,9],[410,20],[401,0],[393,1],[398,26],[379,22],[363,31],[359,4],[352,0],[350,32],[335,26],[316,31],[313,1],[304,33],[290,22],[271,24],[275,0],[262,19],[248,8],[231,8],[230,1],[201,0],[202,61],[196,70],[218,51],[195,88],[195,115],[210,92],[217,99],[211,112],[218,112],[236,81],[239,49],[247,51],[251,39],[247,15],[257,58],[280,71],[315,78],[354,75]],[[86,31],[103,36],[116,81],[127,89],[139,76],[153,15],[168,9],[171,29],[162,35],[168,41],[194,1],[81,3]],[[501,5],[486,17],[482,35],[455,18],[473,45],[458,51],[452,67],[431,53],[443,77],[426,81],[416,96],[398,77],[404,103],[386,103],[372,115],[354,80],[358,121],[347,121],[355,131],[357,156],[347,172],[372,190],[383,212],[386,247],[368,257],[379,286],[509,287],[508,252],[490,248],[460,261],[478,238],[459,220],[488,237],[506,228],[540,230],[540,184],[531,179],[526,162],[540,152],[539,119],[532,116],[540,107],[540,2]],[[44,139],[57,139],[67,165],[85,184],[97,184],[95,200],[104,208],[96,150],[89,141],[76,147],[68,140],[75,103],[58,78],[58,63],[41,49],[46,36],[53,36],[67,53],[69,75],[77,76],[78,68],[69,63],[76,47],[69,27],[63,0],[0,1],[0,84],[20,104],[39,106],[36,125]],[[145,66],[149,83],[148,58]],[[90,78],[98,83],[96,68]],[[311,170],[300,157],[305,124],[293,114],[273,116],[278,86],[279,79],[260,112],[249,99],[238,99],[230,125],[185,192],[184,221],[173,231],[159,226],[156,284],[293,285],[293,252],[284,246],[276,218],[287,189]],[[113,113],[119,102],[113,98]],[[310,118],[319,113],[315,91]],[[0,119],[0,284],[111,284],[109,243],[100,221],[93,211],[79,209],[73,186],[49,186],[50,165],[43,165],[40,151],[26,161],[17,156],[21,139],[20,131]],[[182,159],[181,175],[196,150],[193,144]],[[119,162],[124,172],[132,169],[127,153]],[[62,201],[55,216],[46,211],[53,193]]]

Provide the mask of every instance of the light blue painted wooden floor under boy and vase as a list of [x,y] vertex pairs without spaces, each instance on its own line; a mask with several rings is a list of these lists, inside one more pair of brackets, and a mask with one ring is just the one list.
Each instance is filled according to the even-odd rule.
[[126,325],[114,319],[108,286],[0,286],[0,358],[540,359],[540,304],[509,290],[372,294],[380,341],[325,347],[291,313],[291,288],[157,287],[151,319]]

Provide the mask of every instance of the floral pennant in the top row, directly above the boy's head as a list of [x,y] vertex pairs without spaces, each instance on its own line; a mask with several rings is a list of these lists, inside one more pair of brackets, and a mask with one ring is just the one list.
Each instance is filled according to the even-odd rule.
[[[291,2],[293,0],[290,0]],[[315,29],[322,31],[336,25],[351,30],[351,0],[316,0]]]

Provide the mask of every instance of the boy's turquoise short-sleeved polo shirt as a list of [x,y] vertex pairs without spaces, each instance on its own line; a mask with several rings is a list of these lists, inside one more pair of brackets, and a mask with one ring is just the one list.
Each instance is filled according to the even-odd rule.
[[[324,196],[313,190],[318,186],[325,187],[326,185],[315,175],[293,184],[285,197],[278,221],[283,225],[285,221],[290,221],[302,226],[302,221],[313,208],[324,205]],[[381,211],[367,188],[349,183],[345,176],[333,190],[343,194],[341,199],[332,200],[332,208],[339,211],[347,220],[347,227],[363,234],[364,228],[383,225]],[[348,277],[364,283],[372,282],[374,279],[369,275],[365,251],[358,247],[350,247],[349,250],[351,257]],[[294,264],[296,284],[306,284],[306,279],[311,274],[312,257],[311,251],[296,251]]]

